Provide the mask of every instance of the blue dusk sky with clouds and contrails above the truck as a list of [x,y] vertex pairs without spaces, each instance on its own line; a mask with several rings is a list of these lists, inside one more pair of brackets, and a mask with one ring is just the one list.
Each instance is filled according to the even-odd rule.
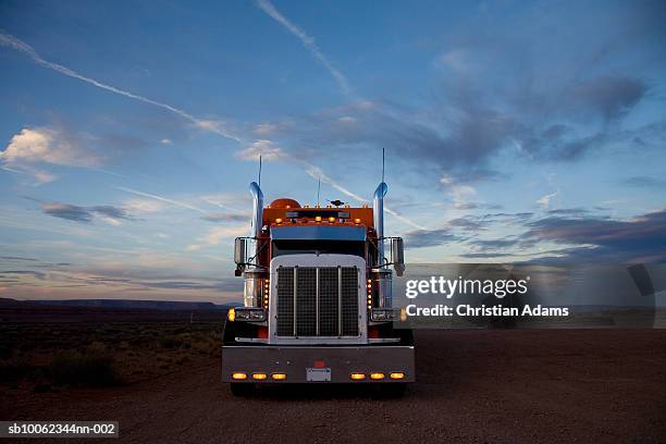
[[248,184],[407,262],[666,262],[663,1],[0,1],[0,297],[240,300]]

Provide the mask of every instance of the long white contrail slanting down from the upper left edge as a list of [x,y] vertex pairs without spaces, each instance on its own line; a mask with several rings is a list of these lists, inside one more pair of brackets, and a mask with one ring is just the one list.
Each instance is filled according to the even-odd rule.
[[173,107],[171,104],[168,103],[163,103],[157,100],[152,100],[148,97],[144,97],[144,96],[139,96],[137,94],[134,92],[130,92],[123,89],[119,89],[114,86],[111,85],[107,85],[102,82],[96,81],[95,78],[90,78],[87,77],[83,74],[77,73],[74,70],[71,70],[66,66],[63,66],[61,64],[58,63],[53,63],[53,62],[49,62],[48,60],[45,60],[41,55],[39,55],[39,53],[28,44],[26,44],[25,41],[12,36],[11,34],[7,34],[4,32],[0,30],[0,45],[11,48],[13,50],[23,52],[24,54],[28,55],[35,63],[37,63],[38,65],[41,65],[48,70],[52,70],[55,71],[60,74],[66,75],[67,77],[72,77],[72,78],[76,78],[78,81],[85,82],[87,84],[90,84],[92,86],[96,86],[98,88],[101,89],[106,89],[110,92],[114,92],[118,94],[120,96],[124,96],[127,97],[130,99],[134,99],[134,100],[138,100],[141,101],[144,103],[148,103],[148,104],[152,104],[155,107],[161,108],[163,110],[173,112],[174,114],[180,115],[181,118],[192,122],[195,124],[195,126],[205,130],[205,131],[209,131],[211,133],[215,133],[219,134],[223,137],[227,137],[231,138],[233,140],[236,141],[240,141],[238,139],[238,137],[234,136],[233,134],[227,133],[226,131],[224,131],[224,128],[222,127],[222,125],[219,124],[212,124],[211,121],[206,121],[206,120],[200,120],[197,119],[196,116],[189,114],[186,111],[183,111],[180,108]]

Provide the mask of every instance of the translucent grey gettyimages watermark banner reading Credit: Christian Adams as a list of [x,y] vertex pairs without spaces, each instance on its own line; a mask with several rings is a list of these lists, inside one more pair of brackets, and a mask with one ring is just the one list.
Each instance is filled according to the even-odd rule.
[[665,328],[665,288],[663,264],[408,264],[394,326]]

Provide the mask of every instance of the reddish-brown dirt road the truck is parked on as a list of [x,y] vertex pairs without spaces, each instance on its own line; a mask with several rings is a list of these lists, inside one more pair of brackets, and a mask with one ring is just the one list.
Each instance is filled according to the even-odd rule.
[[417,349],[400,399],[331,386],[234,398],[211,359],[121,388],[5,398],[0,418],[118,420],[121,442],[666,441],[666,331],[421,331]]

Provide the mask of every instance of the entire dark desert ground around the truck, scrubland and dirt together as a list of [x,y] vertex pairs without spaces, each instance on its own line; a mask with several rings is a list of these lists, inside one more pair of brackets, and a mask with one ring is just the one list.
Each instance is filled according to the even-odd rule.
[[219,312],[37,311],[0,310],[0,420],[116,420],[120,442],[666,442],[666,330],[418,331],[402,398],[238,398]]

